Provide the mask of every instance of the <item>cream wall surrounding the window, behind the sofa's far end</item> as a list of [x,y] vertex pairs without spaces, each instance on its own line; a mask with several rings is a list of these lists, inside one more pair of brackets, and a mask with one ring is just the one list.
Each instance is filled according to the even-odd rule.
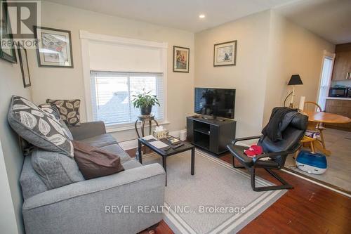
[[[44,103],[46,98],[80,98],[81,120],[86,120],[84,101],[84,81],[81,65],[81,45],[79,30],[111,36],[168,42],[168,121],[170,130],[184,129],[185,116],[192,114],[194,87],[194,34],[168,27],[151,25],[145,22],[127,20],[110,15],[102,15],[79,8],[43,1],[41,22],[44,27],[70,30],[74,68],[38,67],[37,54],[30,51],[29,60],[35,61],[31,69],[34,103]],[[190,72],[172,72],[173,46],[190,48]],[[145,58],[147,59],[147,58]],[[114,134],[118,141],[136,137],[134,130]]]

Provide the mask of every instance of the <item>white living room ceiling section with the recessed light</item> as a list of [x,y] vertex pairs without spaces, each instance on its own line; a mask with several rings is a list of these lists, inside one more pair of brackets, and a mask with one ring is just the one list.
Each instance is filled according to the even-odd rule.
[[[48,0],[156,25],[199,32],[296,0]],[[206,18],[199,19],[199,14]]]

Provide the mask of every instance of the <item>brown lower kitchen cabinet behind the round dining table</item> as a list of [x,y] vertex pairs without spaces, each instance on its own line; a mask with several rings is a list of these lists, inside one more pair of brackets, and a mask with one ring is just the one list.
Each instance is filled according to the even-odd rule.
[[[351,100],[326,99],[326,111],[336,115],[343,115],[351,118]],[[351,123],[348,124],[324,124],[326,127],[351,131]]]

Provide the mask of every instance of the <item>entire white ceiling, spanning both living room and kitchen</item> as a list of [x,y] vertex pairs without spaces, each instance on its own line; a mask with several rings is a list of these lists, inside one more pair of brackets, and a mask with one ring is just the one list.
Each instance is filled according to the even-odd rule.
[[[274,8],[333,44],[351,42],[351,0],[47,0],[107,15],[199,32]],[[199,14],[206,18],[199,19]]]

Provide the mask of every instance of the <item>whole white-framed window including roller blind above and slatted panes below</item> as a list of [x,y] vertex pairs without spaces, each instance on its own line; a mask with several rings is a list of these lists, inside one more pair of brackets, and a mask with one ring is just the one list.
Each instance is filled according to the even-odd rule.
[[151,91],[160,106],[152,108],[159,122],[166,122],[167,48],[165,42],[112,37],[80,31],[88,121],[106,125],[132,125],[140,115],[133,95]]

